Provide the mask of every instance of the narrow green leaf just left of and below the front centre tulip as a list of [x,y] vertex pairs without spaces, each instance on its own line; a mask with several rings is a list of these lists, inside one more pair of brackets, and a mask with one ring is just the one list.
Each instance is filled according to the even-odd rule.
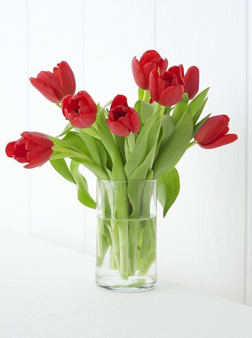
[[97,118],[97,124],[101,141],[107,149],[111,160],[113,161],[116,154],[115,138],[113,137],[110,129],[107,126],[104,110],[99,114]]

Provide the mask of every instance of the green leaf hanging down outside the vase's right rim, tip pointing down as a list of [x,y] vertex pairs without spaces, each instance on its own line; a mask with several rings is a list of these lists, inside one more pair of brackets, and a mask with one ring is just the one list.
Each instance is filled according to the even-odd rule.
[[176,168],[162,174],[157,180],[157,198],[163,207],[163,217],[178,197],[180,189],[179,175]]

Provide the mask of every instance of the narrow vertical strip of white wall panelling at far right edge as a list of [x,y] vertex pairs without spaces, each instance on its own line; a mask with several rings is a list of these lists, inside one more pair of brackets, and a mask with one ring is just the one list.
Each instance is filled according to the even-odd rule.
[[245,232],[244,232],[244,304],[249,303],[249,226],[250,226],[250,0],[245,3]]

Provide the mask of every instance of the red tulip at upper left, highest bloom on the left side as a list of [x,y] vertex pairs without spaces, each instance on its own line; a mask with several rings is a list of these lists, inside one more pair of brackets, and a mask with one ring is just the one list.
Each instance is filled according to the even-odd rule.
[[66,61],[57,64],[53,73],[41,71],[37,78],[30,77],[33,87],[53,103],[59,103],[66,95],[75,93],[75,77],[72,69]]

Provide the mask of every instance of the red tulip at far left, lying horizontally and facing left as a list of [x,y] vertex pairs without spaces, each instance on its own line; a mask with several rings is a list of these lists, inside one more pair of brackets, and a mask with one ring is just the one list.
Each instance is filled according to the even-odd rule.
[[35,168],[46,163],[52,153],[54,143],[44,134],[39,132],[24,131],[17,141],[9,142],[5,152],[8,157],[14,158],[19,163],[28,163],[24,168]]

